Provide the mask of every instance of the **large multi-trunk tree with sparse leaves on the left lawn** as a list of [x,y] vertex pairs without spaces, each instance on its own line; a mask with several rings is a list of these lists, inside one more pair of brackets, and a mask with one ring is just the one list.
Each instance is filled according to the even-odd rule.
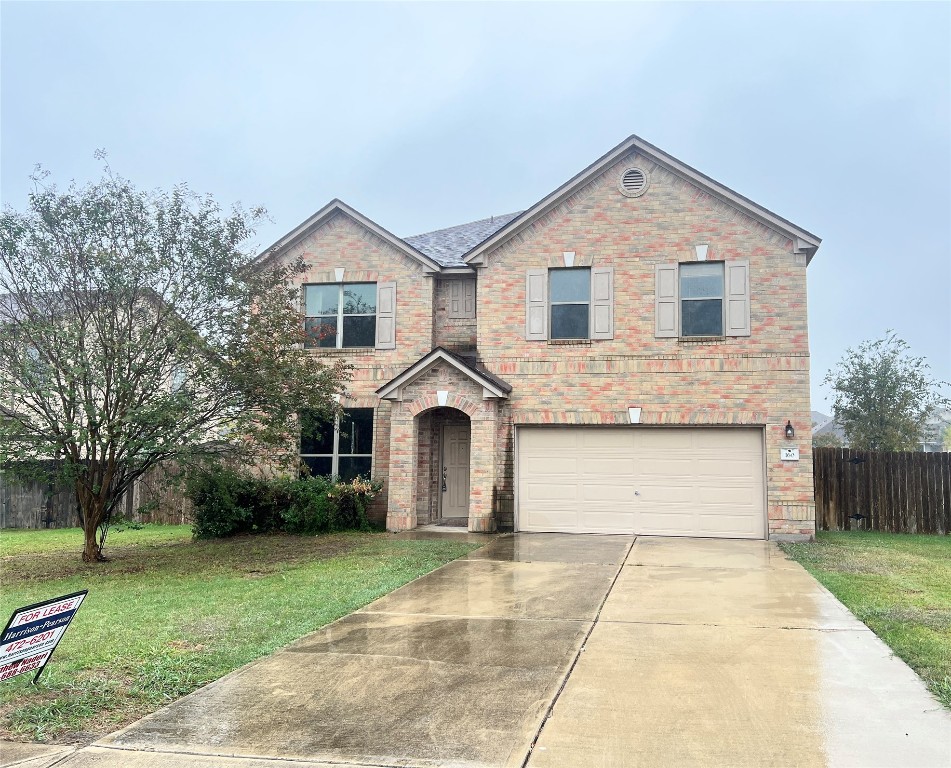
[[303,264],[246,250],[263,215],[108,168],[62,192],[38,175],[0,214],[0,462],[72,484],[83,560],[155,464],[227,444],[296,466],[296,414],[334,412],[349,371],[303,349]]

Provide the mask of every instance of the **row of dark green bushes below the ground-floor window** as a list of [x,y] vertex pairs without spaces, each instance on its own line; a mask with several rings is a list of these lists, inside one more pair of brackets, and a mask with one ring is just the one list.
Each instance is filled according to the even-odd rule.
[[379,481],[328,477],[268,479],[227,467],[193,473],[186,492],[196,539],[285,531],[318,534],[368,530],[367,507]]

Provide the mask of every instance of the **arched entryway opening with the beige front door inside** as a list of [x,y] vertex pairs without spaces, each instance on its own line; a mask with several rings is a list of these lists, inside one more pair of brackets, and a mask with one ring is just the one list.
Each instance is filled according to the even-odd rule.
[[418,414],[416,444],[417,524],[467,527],[472,461],[469,416],[450,407]]

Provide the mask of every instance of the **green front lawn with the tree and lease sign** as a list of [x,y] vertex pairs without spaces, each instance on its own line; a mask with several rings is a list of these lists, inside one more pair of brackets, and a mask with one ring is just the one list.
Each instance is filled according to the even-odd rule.
[[88,589],[52,662],[0,683],[0,737],[94,739],[475,548],[388,534],[191,541],[187,526],[0,533],[0,618]]

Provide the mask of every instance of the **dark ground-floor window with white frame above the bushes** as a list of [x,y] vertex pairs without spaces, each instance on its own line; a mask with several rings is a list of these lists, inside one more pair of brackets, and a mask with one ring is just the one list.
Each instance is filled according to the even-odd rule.
[[300,456],[314,475],[336,475],[345,482],[370,477],[373,409],[344,408],[333,423],[301,414]]

